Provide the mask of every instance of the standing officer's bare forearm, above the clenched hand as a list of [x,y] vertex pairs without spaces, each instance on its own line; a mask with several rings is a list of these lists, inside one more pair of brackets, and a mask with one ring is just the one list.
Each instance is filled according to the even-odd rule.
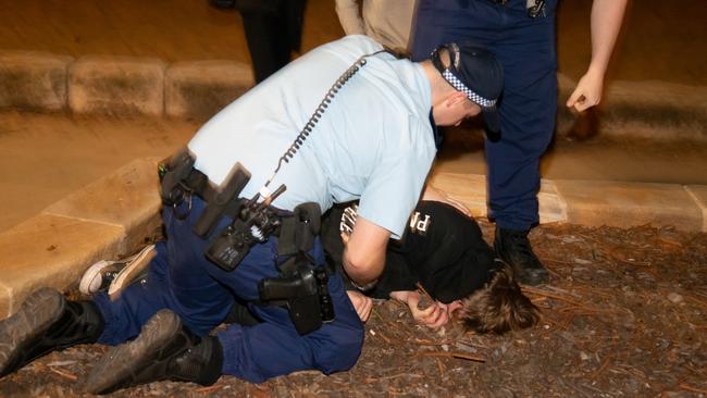
[[592,5],[592,61],[588,70],[601,76],[613,51],[628,0],[594,0]]

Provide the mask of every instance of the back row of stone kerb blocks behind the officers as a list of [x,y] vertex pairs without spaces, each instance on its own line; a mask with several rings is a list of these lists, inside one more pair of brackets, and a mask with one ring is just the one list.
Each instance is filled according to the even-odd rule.
[[[45,61],[35,65],[27,57]],[[0,109],[57,111],[69,103],[69,110],[76,113],[204,121],[252,83],[249,66],[232,61],[178,62],[166,67],[157,59],[87,55],[71,60],[0,51]],[[47,62],[57,69],[38,72]],[[61,71],[64,83],[60,83]],[[601,105],[578,117],[565,107],[575,82],[561,73],[557,78],[560,136],[707,141],[707,87],[615,80],[607,85]]]

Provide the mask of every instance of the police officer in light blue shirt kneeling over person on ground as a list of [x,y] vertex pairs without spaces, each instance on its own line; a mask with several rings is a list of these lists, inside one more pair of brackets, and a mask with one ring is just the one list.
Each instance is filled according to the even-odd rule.
[[[327,322],[317,327],[301,326],[311,308],[296,307],[299,297],[286,307],[260,300],[266,282],[290,281],[281,273],[292,259],[323,269],[319,238],[306,252],[283,254],[285,220],[303,203],[325,211],[360,199],[344,270],[355,284],[371,284],[383,271],[388,239],[402,234],[421,196],[436,151],[435,124],[458,124],[480,112],[497,123],[495,101],[503,87],[499,63],[481,48],[446,45],[421,63],[382,50],[364,36],[321,46],[209,121],[188,144],[191,157],[176,158],[186,160],[178,182],[189,189],[170,197],[163,209],[168,239],[157,244],[147,283],[129,286],[115,300],[98,294],[90,301],[67,301],[58,291],[37,290],[18,314],[0,322],[0,375],[80,343],[119,345],[87,378],[95,394],[160,380],[209,385],[230,374],[257,383],[300,370],[328,374],[351,368],[363,325],[340,275],[306,274],[317,277],[320,306],[309,315],[324,319],[327,311]],[[243,208],[224,213],[206,234],[196,233],[201,217],[221,203],[220,192],[228,191],[237,164],[250,176],[237,197],[255,200],[236,198]],[[177,169],[164,174],[163,188]],[[246,225],[247,212],[282,216],[283,224],[250,241],[249,250],[235,250],[240,246],[228,246],[224,237],[237,235],[233,228]],[[253,236],[265,231],[255,228],[265,224],[247,225],[250,229],[237,231]],[[215,245],[221,238],[228,245]],[[234,250],[245,257],[225,266],[221,260],[237,258]],[[287,286],[312,279],[296,281],[301,284]],[[234,299],[258,322],[209,335]]]

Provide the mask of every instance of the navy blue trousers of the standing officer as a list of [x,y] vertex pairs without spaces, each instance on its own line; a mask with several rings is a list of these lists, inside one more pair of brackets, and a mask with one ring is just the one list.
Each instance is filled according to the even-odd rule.
[[557,57],[555,8],[528,16],[525,0],[419,0],[412,57],[421,61],[439,45],[472,41],[504,66],[498,111],[501,138],[486,140],[488,215],[497,226],[529,229],[538,222],[539,158],[555,129]]

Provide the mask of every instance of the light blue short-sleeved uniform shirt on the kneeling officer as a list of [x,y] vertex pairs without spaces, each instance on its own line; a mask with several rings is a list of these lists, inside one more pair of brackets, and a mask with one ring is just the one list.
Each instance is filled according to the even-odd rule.
[[[251,173],[241,197],[263,186],[332,84],[359,57],[381,50],[365,36],[321,46],[252,88],[204,124],[188,147],[196,169],[221,184],[236,162]],[[436,149],[430,83],[419,64],[369,57],[334,97],[295,157],[270,184],[292,210],[360,199],[359,215],[399,238]]]

